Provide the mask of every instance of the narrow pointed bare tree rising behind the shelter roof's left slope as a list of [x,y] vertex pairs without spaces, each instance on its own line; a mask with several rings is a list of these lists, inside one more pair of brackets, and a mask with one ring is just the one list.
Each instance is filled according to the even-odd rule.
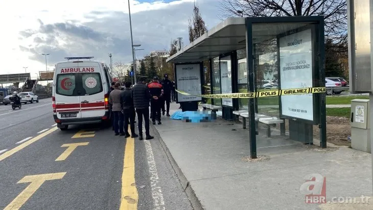
[[192,18],[189,18],[189,41],[192,42],[207,32],[207,27],[202,19],[198,6],[194,3]]

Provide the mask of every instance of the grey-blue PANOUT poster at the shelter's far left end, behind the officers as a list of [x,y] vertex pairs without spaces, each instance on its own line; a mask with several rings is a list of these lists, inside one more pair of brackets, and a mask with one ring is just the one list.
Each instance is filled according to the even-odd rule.
[[[202,95],[200,64],[178,64],[175,67],[177,89],[191,95]],[[202,98],[178,94],[177,100],[178,102],[201,101]]]

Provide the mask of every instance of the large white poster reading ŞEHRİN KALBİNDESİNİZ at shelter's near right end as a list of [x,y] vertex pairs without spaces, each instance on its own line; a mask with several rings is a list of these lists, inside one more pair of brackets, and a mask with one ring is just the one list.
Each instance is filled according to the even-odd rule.
[[[281,89],[312,87],[311,29],[279,38]],[[312,94],[281,96],[285,116],[313,121]]]

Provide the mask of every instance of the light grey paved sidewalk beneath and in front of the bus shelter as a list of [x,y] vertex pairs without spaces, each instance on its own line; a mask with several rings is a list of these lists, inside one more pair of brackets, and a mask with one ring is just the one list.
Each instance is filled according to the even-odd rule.
[[[172,103],[170,114],[177,108]],[[264,159],[248,162],[248,130],[241,124],[221,119],[185,123],[165,115],[155,129],[195,209],[344,209],[341,204],[305,203],[300,185],[310,173],[327,177],[328,201],[334,196],[372,195],[369,153],[302,145],[280,137],[275,129],[267,138],[261,128],[257,147]]]

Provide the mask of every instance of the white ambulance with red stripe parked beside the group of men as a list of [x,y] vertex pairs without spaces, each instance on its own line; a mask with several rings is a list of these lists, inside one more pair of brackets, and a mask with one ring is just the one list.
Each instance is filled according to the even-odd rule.
[[111,75],[94,57],[66,57],[55,65],[52,88],[53,117],[57,127],[109,124]]

